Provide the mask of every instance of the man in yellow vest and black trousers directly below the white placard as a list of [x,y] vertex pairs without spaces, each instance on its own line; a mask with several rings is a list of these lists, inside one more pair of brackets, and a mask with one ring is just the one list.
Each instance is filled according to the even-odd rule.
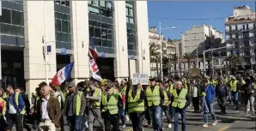
[[146,96],[143,85],[139,83],[129,86],[126,91],[125,112],[128,112],[131,118],[132,130],[143,131],[144,98]]

